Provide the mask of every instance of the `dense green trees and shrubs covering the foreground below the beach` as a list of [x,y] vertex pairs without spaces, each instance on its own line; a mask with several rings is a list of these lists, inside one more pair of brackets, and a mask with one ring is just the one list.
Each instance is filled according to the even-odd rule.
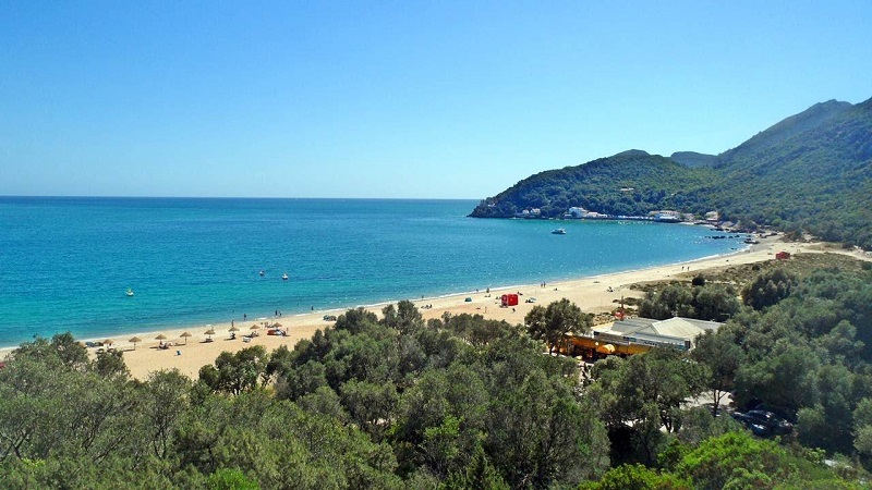
[[[652,287],[645,308],[729,311],[729,320],[690,355],[613,356],[584,372],[546,354],[590,326],[566,301],[535,308],[523,327],[469,315],[425,322],[409,302],[380,319],[352,309],[293,350],[221,354],[198,380],[174,370],[132,380],[120,354],[90,360],[69,334],[37,339],[0,369],[0,481],[862,488],[872,464],[872,271],[847,259],[813,271],[801,262]],[[797,430],[759,439],[723,411],[689,403],[726,392]],[[835,469],[823,463],[837,454]]]

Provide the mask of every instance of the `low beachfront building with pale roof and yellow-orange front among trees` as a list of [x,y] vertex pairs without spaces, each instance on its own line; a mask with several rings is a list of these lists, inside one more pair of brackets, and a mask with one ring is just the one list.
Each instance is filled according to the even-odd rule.
[[570,339],[569,355],[596,359],[606,355],[632,355],[652,347],[673,347],[690,351],[697,336],[705,331],[716,332],[724,323],[692,318],[627,318],[610,326],[594,327],[586,335]]

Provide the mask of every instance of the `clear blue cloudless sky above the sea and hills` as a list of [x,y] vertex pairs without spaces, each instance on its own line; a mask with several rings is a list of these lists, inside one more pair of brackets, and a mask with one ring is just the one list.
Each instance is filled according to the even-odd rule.
[[870,0],[5,0],[0,195],[482,198],[870,97]]

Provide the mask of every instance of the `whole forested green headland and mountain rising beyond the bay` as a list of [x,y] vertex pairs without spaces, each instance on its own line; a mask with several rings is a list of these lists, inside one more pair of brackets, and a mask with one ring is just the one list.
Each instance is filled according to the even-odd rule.
[[717,157],[631,150],[532,175],[470,216],[509,218],[580,206],[608,215],[711,210],[872,249],[872,99],[818,103]]

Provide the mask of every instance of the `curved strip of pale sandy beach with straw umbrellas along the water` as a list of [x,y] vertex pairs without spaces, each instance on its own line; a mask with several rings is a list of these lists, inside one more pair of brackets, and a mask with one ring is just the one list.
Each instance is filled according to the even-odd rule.
[[[407,298],[412,299],[425,319],[438,318],[445,311],[450,311],[452,315],[459,314],[479,314],[488,319],[506,320],[511,323],[522,323],[526,313],[535,305],[548,305],[552,302],[561,299],[564,297],[572,301],[579,305],[585,313],[608,313],[611,311],[621,297],[639,297],[640,292],[630,290],[629,285],[646,282],[664,280],[671,277],[681,277],[682,274],[697,274],[706,269],[736,265],[736,264],[751,264],[773,259],[775,253],[778,250],[787,250],[791,254],[804,253],[822,253],[822,252],[839,252],[848,253],[836,247],[825,247],[819,243],[785,243],[779,237],[767,237],[761,240],[761,243],[753,245],[751,248],[737,252],[731,255],[710,257],[689,262],[674,264],[667,266],[652,267],[649,269],[617,272],[604,275],[581,278],[571,281],[560,281],[542,284],[526,284],[520,286],[510,286],[504,289],[492,289],[489,293],[484,290],[477,293],[458,294],[452,296],[444,296],[437,298]],[[851,255],[867,258],[858,253],[850,253]],[[520,303],[513,308],[500,308],[499,296],[504,293],[520,293]],[[467,302],[467,298],[471,302]],[[535,298],[535,303],[526,303],[528,298]],[[400,301],[403,298],[397,298]],[[425,305],[431,307],[422,308]],[[380,314],[384,305],[374,305],[370,307],[372,311]],[[162,330],[143,332],[131,334],[124,339],[112,339],[114,344],[112,347],[120,348],[124,352],[124,360],[130,368],[131,375],[137,379],[145,379],[152,371],[161,369],[177,368],[189,377],[196,378],[199,368],[206,364],[210,364],[223,351],[235,352],[243,347],[252,345],[263,345],[267,351],[272,351],[280,345],[287,345],[293,348],[293,345],[301,339],[311,338],[316,330],[330,327],[332,322],[325,321],[325,315],[341,315],[344,310],[316,310],[311,314],[296,315],[296,316],[282,316],[280,318],[249,318],[246,321],[235,322],[235,327],[240,329],[237,332],[237,338],[231,340],[229,329],[231,323],[215,323],[211,326],[191,327],[179,330]],[[287,331],[286,336],[267,335],[265,323],[274,324],[280,323],[281,329]],[[243,335],[251,333],[252,327],[257,327],[254,331],[259,335],[243,341]],[[215,331],[215,335],[207,335],[205,332],[209,329]],[[190,332],[190,338],[182,338],[183,332]],[[158,335],[166,335],[165,342],[171,342],[173,345],[167,350],[159,350],[158,344],[161,342],[156,338]],[[135,346],[129,342],[129,339],[137,336],[142,339]],[[207,342],[211,336],[213,341]],[[98,339],[102,341],[104,339]],[[3,358],[11,348],[0,351],[0,358]],[[92,355],[96,355],[94,348],[89,348]]]

